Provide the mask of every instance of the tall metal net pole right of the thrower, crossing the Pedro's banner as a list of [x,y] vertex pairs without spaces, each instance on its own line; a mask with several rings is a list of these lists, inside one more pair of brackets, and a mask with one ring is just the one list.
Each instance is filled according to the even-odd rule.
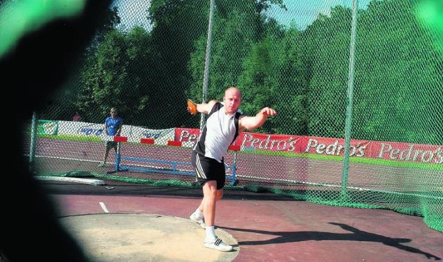
[[352,1],[352,28],[351,28],[351,44],[349,57],[349,75],[347,80],[347,106],[346,106],[346,123],[345,123],[345,151],[343,158],[343,176],[341,177],[341,196],[347,199],[347,177],[349,171],[349,153],[351,141],[351,122],[352,122],[352,99],[354,92],[354,64],[355,64],[355,42],[357,28],[357,4],[358,0]]

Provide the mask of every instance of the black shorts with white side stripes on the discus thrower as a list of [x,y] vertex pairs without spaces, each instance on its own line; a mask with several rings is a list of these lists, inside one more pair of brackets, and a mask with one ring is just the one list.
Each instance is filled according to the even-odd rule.
[[221,163],[213,158],[201,156],[192,150],[191,154],[192,167],[196,171],[196,180],[200,185],[204,185],[207,181],[216,180],[217,189],[222,189],[226,181],[226,171],[224,161]]

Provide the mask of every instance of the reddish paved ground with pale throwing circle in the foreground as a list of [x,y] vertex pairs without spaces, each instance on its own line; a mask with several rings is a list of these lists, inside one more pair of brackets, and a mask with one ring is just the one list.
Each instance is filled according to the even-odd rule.
[[[60,220],[95,261],[439,261],[443,234],[419,216],[317,205],[284,196],[225,191],[217,234],[233,252],[203,247],[188,219],[200,189],[115,181],[42,181]],[[94,238],[90,237],[94,236]]]

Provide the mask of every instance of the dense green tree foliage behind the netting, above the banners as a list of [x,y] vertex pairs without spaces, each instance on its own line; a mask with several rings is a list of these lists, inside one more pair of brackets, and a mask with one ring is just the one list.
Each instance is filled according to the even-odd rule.
[[[264,133],[343,138],[349,117],[355,139],[442,143],[442,53],[417,23],[415,1],[371,1],[359,10],[355,50],[350,8],[334,6],[300,30],[266,16],[271,6],[284,10],[282,1],[215,3],[206,100],[239,87],[246,114],[278,111],[258,130]],[[116,106],[127,124],[199,127],[184,105],[202,100],[209,9],[209,1],[152,0],[149,32],[116,29],[118,10],[109,10],[66,84],[75,88],[59,94],[69,102],[56,97],[42,113],[66,119],[76,109],[102,122]]]

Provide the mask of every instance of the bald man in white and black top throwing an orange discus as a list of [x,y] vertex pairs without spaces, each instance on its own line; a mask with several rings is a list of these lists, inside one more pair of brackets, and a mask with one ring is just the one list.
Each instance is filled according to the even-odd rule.
[[[219,250],[231,251],[215,234],[215,206],[223,197],[226,180],[224,156],[237,136],[244,130],[251,131],[262,127],[266,119],[277,115],[275,110],[265,107],[254,116],[242,115],[238,111],[242,102],[242,93],[235,86],[224,92],[223,102],[211,100],[208,103],[189,105],[188,111],[207,114],[206,125],[192,148],[191,162],[196,171],[196,180],[203,188],[203,200],[190,215],[190,219],[199,223],[206,230],[204,246]],[[195,107],[195,108],[194,108]]]

